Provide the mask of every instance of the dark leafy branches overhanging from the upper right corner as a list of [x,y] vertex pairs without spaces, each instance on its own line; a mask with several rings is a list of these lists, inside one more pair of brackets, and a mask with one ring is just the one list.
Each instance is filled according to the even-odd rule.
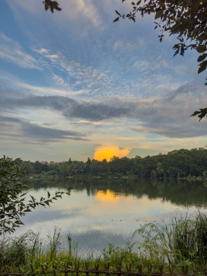
[[[122,0],[122,3],[126,0]],[[159,41],[162,41],[164,32],[177,35],[178,43],[173,46],[175,55],[184,56],[189,48],[197,50],[199,57],[198,73],[207,67],[207,0],[139,0],[132,1],[132,11],[128,14],[120,14],[113,21],[120,18],[128,18],[136,21],[137,14],[144,17],[145,14],[155,14],[155,29],[160,28]],[[159,20],[159,22],[157,22]],[[207,80],[207,79],[206,79]],[[205,83],[207,85],[207,82]],[[198,115],[199,121],[207,117],[207,108],[200,108],[193,115]]]

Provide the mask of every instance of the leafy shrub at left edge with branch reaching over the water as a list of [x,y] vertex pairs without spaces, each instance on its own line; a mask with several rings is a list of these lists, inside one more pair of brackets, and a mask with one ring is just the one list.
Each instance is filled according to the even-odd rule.
[[67,192],[56,192],[53,197],[48,192],[48,198],[41,197],[39,201],[30,195],[30,200],[26,202],[23,190],[27,186],[23,182],[23,174],[19,172],[19,163],[20,159],[12,160],[5,156],[0,159],[0,235],[13,233],[15,228],[23,224],[21,217],[37,206],[50,206],[64,193],[70,194],[68,188]]

